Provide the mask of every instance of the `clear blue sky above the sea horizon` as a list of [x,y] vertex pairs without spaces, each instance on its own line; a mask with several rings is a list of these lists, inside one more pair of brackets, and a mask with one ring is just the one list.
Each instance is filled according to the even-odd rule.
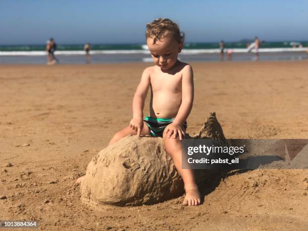
[[0,0],[0,44],[144,43],[145,24],[159,17],[187,42],[308,40],[306,0]]

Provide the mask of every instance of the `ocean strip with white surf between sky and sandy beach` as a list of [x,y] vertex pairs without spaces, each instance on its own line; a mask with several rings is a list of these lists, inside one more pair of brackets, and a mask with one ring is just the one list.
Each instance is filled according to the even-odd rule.
[[[247,49],[249,40],[225,42],[225,52],[232,51],[233,61],[255,58],[255,49]],[[151,62],[145,44],[91,44],[91,63]],[[308,41],[262,42],[260,60],[301,60],[307,58]],[[83,44],[57,44],[55,51],[59,63],[86,63]],[[185,43],[179,58],[182,61],[218,61],[218,42]],[[45,45],[0,45],[0,64],[45,64]],[[224,57],[226,60],[226,55]]]

